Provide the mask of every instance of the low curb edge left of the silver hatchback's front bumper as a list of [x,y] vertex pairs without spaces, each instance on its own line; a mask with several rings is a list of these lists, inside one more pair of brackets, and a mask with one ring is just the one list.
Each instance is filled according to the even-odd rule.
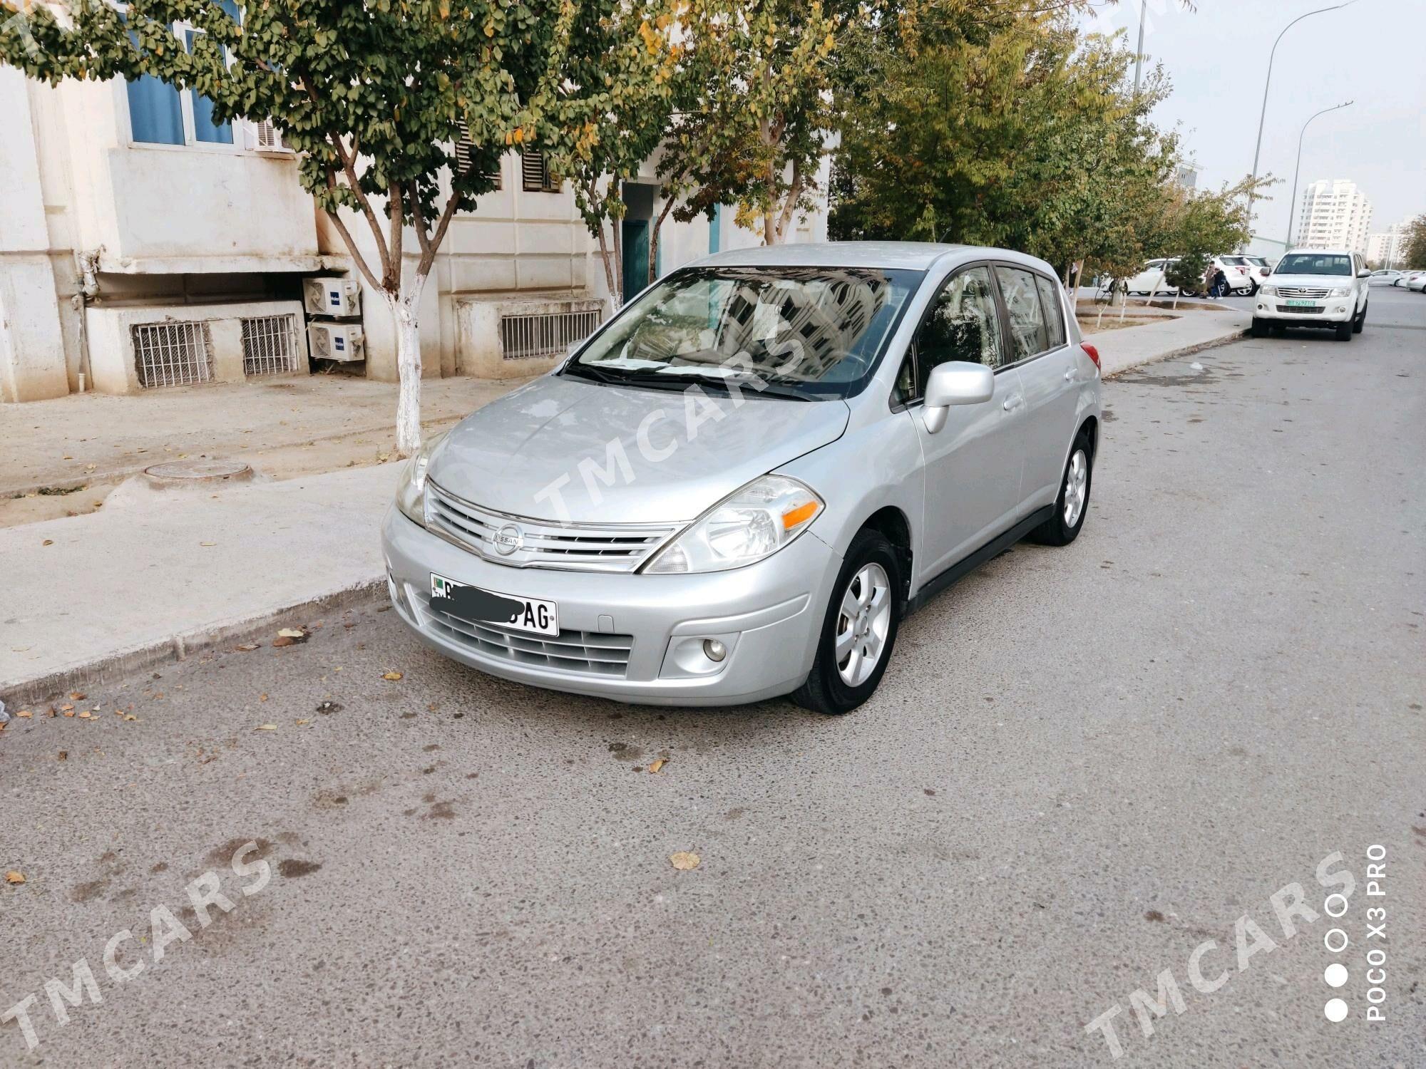
[[4,701],[11,708],[48,701],[67,690],[97,686],[103,681],[101,677],[147,671],[158,664],[185,660],[190,654],[202,650],[211,650],[241,639],[257,637],[268,631],[278,620],[292,614],[334,613],[358,609],[378,601],[385,596],[385,576],[366,579],[302,601],[265,609],[240,620],[210,624],[208,627],[185,634],[174,634],[144,646],[104,654],[88,663],[74,664],[60,671],[50,671],[29,680],[3,680],[0,681],[0,701]]

